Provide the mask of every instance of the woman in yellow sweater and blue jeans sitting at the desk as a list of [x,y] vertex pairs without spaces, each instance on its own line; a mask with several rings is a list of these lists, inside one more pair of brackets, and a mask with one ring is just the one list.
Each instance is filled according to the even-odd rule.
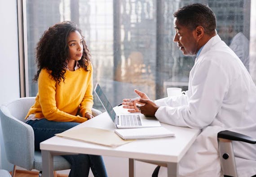
[[[61,22],[46,30],[36,47],[38,82],[35,104],[26,123],[40,142],[93,118],[93,67],[81,30],[74,22]],[[79,114],[79,115],[78,115]],[[71,164],[69,177],[106,177],[98,155],[63,155]]]

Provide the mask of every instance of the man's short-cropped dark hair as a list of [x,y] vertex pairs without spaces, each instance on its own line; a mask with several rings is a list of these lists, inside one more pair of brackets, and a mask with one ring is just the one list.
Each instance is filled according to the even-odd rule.
[[207,35],[215,33],[216,17],[207,5],[195,3],[178,9],[174,14],[179,23],[194,30],[197,26],[203,26]]

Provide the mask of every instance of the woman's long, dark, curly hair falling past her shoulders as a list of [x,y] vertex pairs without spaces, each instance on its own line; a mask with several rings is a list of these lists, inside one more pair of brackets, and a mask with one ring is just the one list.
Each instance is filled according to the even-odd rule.
[[34,81],[38,81],[39,73],[42,69],[51,71],[51,75],[58,83],[65,80],[64,74],[66,73],[68,58],[68,45],[67,37],[71,32],[78,31],[83,38],[83,56],[78,61],[79,67],[88,70],[90,61],[90,54],[88,47],[85,43],[84,36],[81,30],[74,22],[65,21],[55,24],[44,31],[36,46],[36,63],[37,73],[35,74]]

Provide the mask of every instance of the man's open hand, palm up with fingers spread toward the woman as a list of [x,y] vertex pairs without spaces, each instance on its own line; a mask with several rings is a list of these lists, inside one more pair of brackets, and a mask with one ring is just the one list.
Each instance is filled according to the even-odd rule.
[[[134,90],[135,91],[135,93],[137,93],[137,95],[139,95],[142,99],[149,99],[149,97],[145,94],[145,93],[143,93],[143,92],[141,92],[141,91],[138,91],[138,90]],[[136,100],[134,100],[134,101],[132,101],[132,102],[129,102],[131,99],[123,99],[123,105],[124,105],[124,107],[123,108],[127,108],[127,109],[129,109],[128,110],[128,112],[140,112],[140,109],[137,107],[137,106],[139,106],[140,104],[143,104],[144,105],[144,103],[140,103],[139,102],[139,98],[138,99],[136,99]]]

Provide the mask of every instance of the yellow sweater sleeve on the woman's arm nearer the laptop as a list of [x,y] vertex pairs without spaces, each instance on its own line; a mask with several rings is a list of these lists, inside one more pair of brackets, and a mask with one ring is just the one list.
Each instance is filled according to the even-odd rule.
[[88,79],[88,86],[84,94],[84,98],[80,104],[80,113],[85,117],[86,112],[92,114],[93,108],[93,66],[90,64],[88,68],[90,72],[90,77]]

